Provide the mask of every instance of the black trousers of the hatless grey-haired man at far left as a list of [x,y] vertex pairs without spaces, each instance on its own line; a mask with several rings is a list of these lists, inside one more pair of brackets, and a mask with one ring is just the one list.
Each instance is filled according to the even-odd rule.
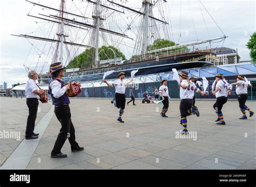
[[37,109],[38,109],[38,99],[37,98],[26,98],[26,105],[29,108],[29,116],[28,120],[26,121],[26,138],[30,138],[33,135],[35,129],[35,122],[37,116]]

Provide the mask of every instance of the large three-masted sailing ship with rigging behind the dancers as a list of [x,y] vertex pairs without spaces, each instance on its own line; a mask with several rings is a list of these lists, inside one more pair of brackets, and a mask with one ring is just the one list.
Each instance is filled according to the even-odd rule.
[[[79,82],[100,80],[103,74],[110,70],[114,70],[114,73],[107,78],[116,78],[121,71],[124,71],[126,76],[129,77],[131,71],[136,69],[138,69],[136,75],[148,75],[170,71],[172,68],[188,69],[212,66],[212,59],[215,59],[214,51],[211,51],[210,48],[207,49],[207,47],[205,49],[198,49],[196,46],[206,43],[211,44],[211,42],[216,41],[221,42],[226,38],[226,35],[223,33],[224,35],[218,38],[197,40],[196,42],[170,47],[166,46],[158,49],[149,49],[149,45],[152,44],[152,41],[163,38],[160,36],[159,24],[163,25],[163,30],[167,32],[167,37],[170,35],[166,28],[169,23],[167,23],[164,15],[162,15],[163,17],[160,19],[154,17],[153,13],[153,9],[157,6],[161,6],[163,9],[163,7],[166,6],[166,0],[143,0],[139,10],[131,8],[131,6],[126,6],[127,0],[121,0],[120,3],[114,0],[82,0],[79,1],[79,3],[78,0],[75,0],[75,2],[68,0],[69,4],[75,5],[76,9],[68,9],[66,5],[67,0],[60,0],[58,9],[53,8],[53,6],[46,6],[31,1],[26,2],[42,10],[53,12],[49,15],[39,13],[39,16],[28,14],[28,16],[33,19],[44,21],[44,23],[49,25],[52,24],[49,27],[50,32],[44,34],[44,37],[38,37],[33,34],[15,35],[29,40],[33,39],[50,43],[48,49],[46,49],[46,44],[44,44],[41,51],[39,48],[35,50],[38,53],[38,60],[33,69],[39,72],[38,81],[41,85],[48,84],[50,81],[50,75],[45,73],[45,71],[49,70],[51,63],[62,62],[65,66],[79,54],[79,50],[83,52],[84,48],[92,49],[91,55],[93,57],[90,66],[79,69],[73,68],[71,71],[67,71],[65,74],[67,80],[70,76]],[[79,5],[83,4],[84,12],[78,9],[76,3]],[[79,10],[80,13],[73,13],[73,10]],[[85,16],[86,13],[88,15],[88,12],[91,13],[91,17]],[[118,21],[118,19],[122,17],[119,15],[123,15],[127,19],[131,18],[131,22],[123,27],[125,29],[122,29],[122,26],[116,26],[117,23],[113,23],[118,22],[121,25],[123,24],[122,21]],[[139,21],[138,18],[140,18]],[[114,21],[108,23],[106,21],[107,19]],[[102,44],[111,44],[117,48],[120,48],[120,45],[130,45],[127,40],[133,40],[133,38],[126,33],[129,33],[135,20],[139,23],[139,29],[135,33],[136,40],[134,46],[132,46],[133,55],[131,59],[124,60],[122,57],[118,57],[114,54],[114,59],[100,60],[99,53],[102,53],[102,51],[99,51],[100,41],[102,41]],[[53,31],[53,27],[55,26],[57,26],[57,30]],[[65,30],[65,28],[68,29]],[[82,33],[85,37],[83,39],[78,38],[77,33],[75,36],[71,34],[71,30]],[[31,45],[35,48],[32,42]],[[42,46],[42,43],[40,45]],[[192,49],[188,47],[192,47]],[[123,49],[125,50],[125,47]],[[71,52],[73,52],[73,54],[71,54]],[[45,59],[43,59],[42,56],[44,56]],[[42,64],[41,67],[38,66],[39,62]],[[25,67],[28,68],[27,66]]]

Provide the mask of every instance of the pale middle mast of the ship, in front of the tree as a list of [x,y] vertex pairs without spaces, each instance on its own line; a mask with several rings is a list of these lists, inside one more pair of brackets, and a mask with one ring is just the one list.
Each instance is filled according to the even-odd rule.
[[100,0],[96,5],[96,32],[95,32],[95,66],[98,67],[99,54],[99,21],[100,21]]

